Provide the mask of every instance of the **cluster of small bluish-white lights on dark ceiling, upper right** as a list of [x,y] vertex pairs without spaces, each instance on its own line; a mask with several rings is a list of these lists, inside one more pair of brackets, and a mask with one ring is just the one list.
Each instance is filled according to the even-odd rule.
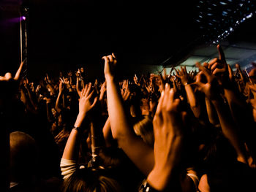
[[200,0],[197,5],[195,21],[206,42],[214,44],[226,39],[241,23],[256,15],[256,1]]

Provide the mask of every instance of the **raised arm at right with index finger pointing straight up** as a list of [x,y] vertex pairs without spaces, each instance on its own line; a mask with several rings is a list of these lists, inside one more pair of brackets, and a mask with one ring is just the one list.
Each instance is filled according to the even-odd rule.
[[219,58],[210,61],[209,66],[211,67],[211,72],[222,85],[233,121],[236,122],[238,127],[238,134],[244,139],[244,142],[246,142],[249,147],[250,153],[254,153],[254,158],[256,158],[255,147],[253,147],[255,145],[255,139],[252,137],[252,135],[255,134],[253,126],[255,122],[252,116],[252,109],[246,103],[246,100],[243,99],[238,89],[233,85],[233,82],[230,81],[228,65],[222,47],[218,45],[217,49]]

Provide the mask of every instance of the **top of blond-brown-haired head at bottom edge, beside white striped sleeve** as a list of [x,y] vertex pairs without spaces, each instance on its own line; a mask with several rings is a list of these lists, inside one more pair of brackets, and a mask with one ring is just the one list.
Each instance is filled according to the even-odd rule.
[[63,192],[109,192],[121,191],[116,180],[105,174],[105,169],[78,169],[64,180]]

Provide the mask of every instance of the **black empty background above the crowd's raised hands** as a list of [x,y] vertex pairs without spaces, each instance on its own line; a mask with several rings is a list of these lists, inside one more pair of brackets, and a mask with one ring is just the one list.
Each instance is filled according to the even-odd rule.
[[[35,79],[81,66],[88,76],[102,77],[101,58],[112,52],[124,75],[134,74],[138,65],[159,65],[170,57],[168,64],[174,64],[204,41],[195,22],[198,1],[5,1],[1,74],[15,72],[20,63],[19,23],[5,22],[18,17],[20,7],[29,7],[28,72]],[[254,23],[244,22],[230,41],[254,41]]]

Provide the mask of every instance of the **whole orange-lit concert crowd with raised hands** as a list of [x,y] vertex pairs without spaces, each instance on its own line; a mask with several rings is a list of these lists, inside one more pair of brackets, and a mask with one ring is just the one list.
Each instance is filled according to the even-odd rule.
[[24,62],[1,76],[9,190],[255,191],[256,64],[217,50],[197,71],[125,80],[113,53],[102,82],[83,68],[32,82]]

